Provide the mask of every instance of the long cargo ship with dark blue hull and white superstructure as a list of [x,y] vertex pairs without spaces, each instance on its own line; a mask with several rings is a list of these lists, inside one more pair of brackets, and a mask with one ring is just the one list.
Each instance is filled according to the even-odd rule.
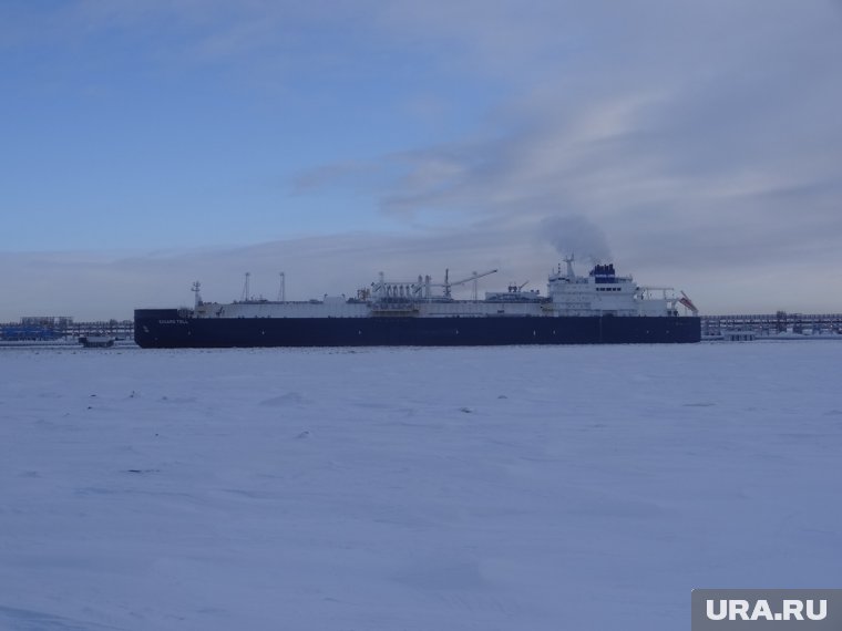
[[[434,283],[431,277],[388,281],[382,272],[351,298],[287,301],[248,297],[205,302],[194,283],[194,307],[136,309],[134,339],[144,349],[254,346],[456,346],[502,344],[692,343],[701,339],[696,306],[671,288],[638,286],[613,263],[577,276],[573,257],[547,280],[547,293],[526,283],[480,299],[476,282],[496,272]],[[283,277],[283,275],[281,275]],[[283,283],[283,278],[281,278]],[[473,283],[472,299],[452,288]],[[283,287],[283,285],[281,285]],[[684,313],[679,313],[682,306]]]

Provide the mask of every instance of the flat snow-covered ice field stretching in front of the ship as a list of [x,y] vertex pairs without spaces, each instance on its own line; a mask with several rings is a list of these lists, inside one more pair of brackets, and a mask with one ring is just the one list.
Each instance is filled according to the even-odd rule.
[[842,587],[842,344],[0,351],[0,628],[689,629]]

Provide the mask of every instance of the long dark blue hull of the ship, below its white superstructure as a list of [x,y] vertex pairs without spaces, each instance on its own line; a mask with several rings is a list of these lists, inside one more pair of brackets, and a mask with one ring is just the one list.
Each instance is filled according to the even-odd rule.
[[615,316],[196,319],[176,309],[137,309],[134,339],[144,349],[691,343],[701,339],[701,322]]

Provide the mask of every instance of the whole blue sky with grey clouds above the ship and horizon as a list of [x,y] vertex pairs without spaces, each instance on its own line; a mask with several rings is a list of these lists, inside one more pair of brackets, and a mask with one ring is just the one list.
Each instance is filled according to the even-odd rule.
[[842,2],[0,2],[0,321],[573,254],[842,311]]

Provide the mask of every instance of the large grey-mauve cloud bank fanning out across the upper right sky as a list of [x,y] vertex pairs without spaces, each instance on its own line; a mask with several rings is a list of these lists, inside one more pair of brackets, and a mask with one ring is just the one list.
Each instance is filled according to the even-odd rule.
[[[632,82],[576,75],[533,86],[469,136],[373,161],[383,179],[370,194],[413,225],[583,219],[633,265],[660,258],[715,272],[810,259],[842,234],[842,80],[830,62],[842,46],[821,10],[782,7],[729,9],[732,24],[718,17],[672,44],[699,72],[656,60],[629,63]],[[656,30],[640,37],[675,38]],[[805,32],[813,38],[793,39]],[[625,70],[620,61],[610,76]]]

